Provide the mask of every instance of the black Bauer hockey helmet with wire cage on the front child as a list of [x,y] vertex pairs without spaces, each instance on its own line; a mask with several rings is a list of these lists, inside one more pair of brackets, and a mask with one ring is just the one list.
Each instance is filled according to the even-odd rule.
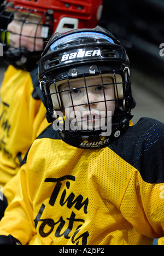
[[[59,132],[63,141],[74,147],[95,149],[106,147],[127,130],[132,118],[131,109],[135,106],[131,95],[129,60],[120,42],[107,30],[97,26],[64,34],[55,33],[46,45],[38,64],[40,89],[44,96],[42,100],[47,110],[46,117],[49,123],[54,122],[54,130]],[[74,79],[77,83],[80,79],[84,80],[83,89],[86,94],[89,90],[87,79],[91,77],[101,78],[102,88],[110,86],[111,84],[104,84],[104,78],[108,76],[113,78],[115,94],[112,99],[115,103],[112,118],[107,110],[107,96],[104,90],[102,103],[106,104],[106,125],[101,126],[99,123],[99,129],[92,126],[92,129],[87,130],[81,129],[79,125],[79,129],[75,113],[77,103],[72,100],[71,108],[75,113],[72,124],[71,119],[66,118],[68,109],[63,107],[61,95],[68,91],[72,98],[72,91],[76,88],[71,89],[69,84]],[[61,90],[60,85],[63,83],[67,86]],[[95,102],[86,100],[84,105],[87,104],[91,109],[92,103]]]

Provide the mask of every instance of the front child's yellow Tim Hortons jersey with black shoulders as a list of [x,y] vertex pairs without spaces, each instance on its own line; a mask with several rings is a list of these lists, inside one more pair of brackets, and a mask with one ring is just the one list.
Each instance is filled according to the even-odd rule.
[[163,226],[162,123],[140,119],[95,150],[69,146],[50,125],[25,156],[0,245],[151,245]]

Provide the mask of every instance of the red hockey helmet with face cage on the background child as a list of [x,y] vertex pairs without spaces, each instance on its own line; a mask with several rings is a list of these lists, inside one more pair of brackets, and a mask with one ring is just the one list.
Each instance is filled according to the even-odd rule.
[[[29,15],[36,15],[40,18],[37,26],[42,26],[41,38],[47,42],[54,32],[64,33],[76,28],[95,27],[101,16],[101,10],[102,0],[4,1],[0,9],[0,36],[4,59],[16,68],[31,70],[33,66],[36,66],[42,53],[42,51],[36,50],[29,51],[22,47],[21,43],[19,48],[10,47],[7,26],[14,19],[14,13],[17,11],[26,14],[25,18],[21,19],[22,28],[26,22],[29,22]],[[35,23],[33,22],[33,24]],[[22,36],[24,35],[22,34]]]

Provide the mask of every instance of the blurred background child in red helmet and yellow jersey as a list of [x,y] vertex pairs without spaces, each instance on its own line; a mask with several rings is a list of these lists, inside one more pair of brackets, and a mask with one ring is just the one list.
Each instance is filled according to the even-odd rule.
[[[97,24],[102,1],[7,1],[1,19],[4,59],[9,64],[1,86],[0,185],[11,201],[17,188],[10,179],[33,140],[48,125],[38,96],[37,63],[44,44],[55,31]],[[41,95],[42,97],[42,95]]]

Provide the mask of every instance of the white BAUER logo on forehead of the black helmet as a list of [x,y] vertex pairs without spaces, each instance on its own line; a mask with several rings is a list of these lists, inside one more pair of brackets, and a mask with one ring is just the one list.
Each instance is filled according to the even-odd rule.
[[102,56],[101,50],[86,50],[85,51],[83,49],[80,49],[78,52],[76,51],[75,53],[62,55],[61,62],[73,60],[73,59],[85,58],[85,57],[94,57],[94,56]]

